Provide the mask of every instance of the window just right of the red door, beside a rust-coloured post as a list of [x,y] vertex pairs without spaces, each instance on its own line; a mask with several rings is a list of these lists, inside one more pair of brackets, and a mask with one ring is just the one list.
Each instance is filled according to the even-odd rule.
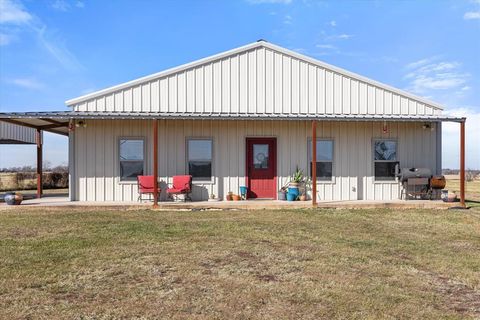
[[[312,143],[308,141],[309,176],[312,176]],[[333,140],[317,139],[317,181],[332,181]]]

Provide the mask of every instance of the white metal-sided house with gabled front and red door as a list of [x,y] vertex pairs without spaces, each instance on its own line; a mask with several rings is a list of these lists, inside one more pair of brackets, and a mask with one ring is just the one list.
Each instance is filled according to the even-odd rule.
[[266,41],[66,104],[71,111],[0,118],[68,130],[72,201],[136,201],[136,176],[154,173],[160,186],[192,175],[194,200],[224,199],[240,186],[276,199],[296,167],[316,171],[314,202],[398,199],[395,166],[440,174],[442,121],[465,122]]

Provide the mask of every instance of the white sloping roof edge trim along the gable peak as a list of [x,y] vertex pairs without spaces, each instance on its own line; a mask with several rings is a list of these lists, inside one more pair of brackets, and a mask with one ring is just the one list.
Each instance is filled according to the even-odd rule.
[[212,63],[214,61],[222,60],[222,59],[225,59],[227,57],[230,57],[230,56],[233,56],[233,55],[238,55],[240,53],[248,52],[248,51],[251,51],[251,50],[254,50],[254,49],[257,49],[257,48],[266,48],[266,49],[269,49],[273,52],[277,52],[277,53],[289,56],[291,58],[298,59],[298,60],[303,61],[305,63],[311,64],[311,65],[317,66],[319,68],[323,68],[325,70],[337,73],[337,74],[342,75],[344,77],[356,80],[359,83],[365,83],[367,85],[370,85],[370,86],[380,88],[380,89],[383,89],[385,91],[389,91],[391,93],[397,94],[401,97],[405,97],[405,98],[408,98],[408,99],[411,99],[411,100],[415,100],[415,101],[417,101],[419,103],[422,103],[422,104],[425,104],[426,106],[431,107],[433,109],[443,110],[443,107],[438,103],[429,101],[429,100],[427,100],[425,98],[422,98],[422,97],[418,97],[418,96],[413,95],[411,93],[408,93],[406,91],[403,91],[403,90],[397,89],[395,87],[383,84],[381,82],[369,79],[367,77],[358,75],[356,73],[347,71],[345,69],[330,65],[328,63],[313,59],[311,57],[300,54],[298,52],[294,52],[292,50],[274,45],[274,44],[266,42],[264,40],[259,40],[259,41],[254,42],[254,43],[250,43],[250,44],[247,44],[247,45],[242,46],[242,47],[238,47],[238,48],[228,50],[228,51],[216,54],[216,55],[212,55],[210,57],[206,57],[206,58],[196,60],[196,61],[193,61],[193,62],[190,62],[190,63],[187,63],[187,64],[183,64],[183,65],[180,65],[178,67],[167,69],[165,71],[154,73],[154,74],[151,74],[151,75],[148,75],[148,76],[145,76],[145,77],[141,77],[141,78],[138,78],[138,79],[135,79],[135,80],[132,80],[132,81],[128,81],[128,82],[125,82],[125,83],[121,83],[121,84],[118,84],[118,85],[115,85],[115,86],[112,86],[112,87],[109,87],[109,88],[106,88],[106,89],[103,89],[103,90],[99,90],[99,91],[92,92],[92,93],[89,93],[89,94],[86,94],[86,95],[83,95],[83,96],[80,96],[80,97],[77,97],[77,98],[73,98],[73,99],[67,100],[65,103],[68,106],[78,105],[78,104],[84,103],[86,101],[89,101],[89,100],[92,100],[92,99],[95,99],[95,98],[98,98],[98,97],[101,97],[101,96],[105,96],[105,95],[117,92],[119,90],[132,88],[132,87],[141,85],[143,83],[148,83],[150,81],[154,81],[154,80],[157,80],[157,79],[160,79],[160,78],[168,77],[170,75],[174,75],[174,74],[177,74],[177,73],[180,73],[180,72],[185,72],[189,69],[196,68],[196,67],[199,67],[199,66],[202,66],[202,65],[206,65],[206,64]]

